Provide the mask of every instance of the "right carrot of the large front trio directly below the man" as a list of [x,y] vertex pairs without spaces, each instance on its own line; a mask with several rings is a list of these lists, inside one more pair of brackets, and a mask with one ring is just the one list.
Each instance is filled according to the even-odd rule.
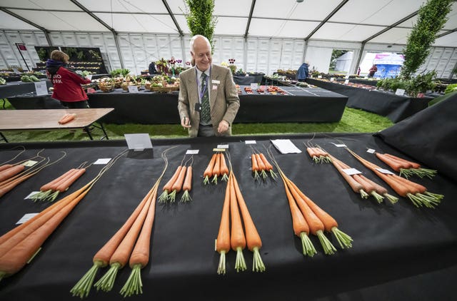
[[265,265],[263,264],[262,258],[260,256],[260,248],[262,248],[262,240],[260,235],[258,235],[258,231],[256,229],[256,225],[251,218],[251,214],[249,214],[248,207],[246,206],[246,202],[244,202],[243,195],[241,195],[241,190],[238,185],[238,181],[236,180],[235,175],[232,173],[232,181],[231,185],[231,194],[233,195],[233,191],[236,195],[236,199],[238,200],[238,206],[241,211],[241,216],[243,217],[243,224],[244,230],[246,231],[246,243],[248,244],[248,249],[254,253],[254,260],[252,263],[252,270],[256,272],[263,272],[265,271]]

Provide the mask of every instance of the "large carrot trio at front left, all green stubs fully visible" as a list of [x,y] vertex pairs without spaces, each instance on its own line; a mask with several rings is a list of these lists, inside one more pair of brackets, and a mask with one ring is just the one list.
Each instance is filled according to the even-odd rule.
[[[166,150],[168,151],[168,150]],[[92,267],[71,288],[74,296],[87,297],[91,290],[96,272],[100,267],[109,265],[109,270],[94,285],[97,290],[109,292],[114,286],[114,281],[119,270],[129,264],[131,275],[121,288],[121,294],[126,296],[143,292],[141,282],[141,269],[149,262],[151,244],[151,231],[154,225],[156,198],[159,183],[168,167],[166,151],[161,157],[165,167],[154,186],[144,196],[124,225],[105,243],[105,245],[92,258]]]

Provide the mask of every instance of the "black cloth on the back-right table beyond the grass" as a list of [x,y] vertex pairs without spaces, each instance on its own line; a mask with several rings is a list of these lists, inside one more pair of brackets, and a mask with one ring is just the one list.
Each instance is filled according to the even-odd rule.
[[428,102],[433,98],[412,98],[398,96],[394,93],[386,93],[376,90],[366,90],[351,86],[319,81],[314,78],[306,78],[306,82],[312,85],[334,91],[348,96],[346,106],[348,108],[360,108],[362,110],[386,116],[394,123],[402,121],[409,116],[427,107]]

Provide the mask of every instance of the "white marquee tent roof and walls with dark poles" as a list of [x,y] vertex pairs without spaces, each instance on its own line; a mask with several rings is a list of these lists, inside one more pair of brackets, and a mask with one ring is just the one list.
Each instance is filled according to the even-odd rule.
[[[271,74],[309,61],[327,72],[333,49],[401,53],[423,0],[216,0],[214,62]],[[34,46],[99,47],[109,69],[134,73],[159,58],[190,60],[183,0],[0,0],[0,69],[36,66]],[[421,67],[457,65],[457,2]],[[19,51],[16,43],[26,44]],[[21,58],[24,56],[24,60]]]

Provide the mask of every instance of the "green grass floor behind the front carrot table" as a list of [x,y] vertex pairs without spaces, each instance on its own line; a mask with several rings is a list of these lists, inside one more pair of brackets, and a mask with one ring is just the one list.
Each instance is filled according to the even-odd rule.
[[[6,103],[7,109],[12,109]],[[149,133],[151,138],[184,138],[185,131],[176,121],[176,124],[146,125],[146,124],[104,124],[110,140],[124,139],[124,134]],[[336,123],[235,123],[232,128],[233,136],[248,135],[278,135],[290,133],[374,133],[392,126],[393,123],[386,117],[353,108],[344,110],[341,121]],[[82,141],[90,140],[87,133],[76,130],[58,131],[4,131],[4,136],[11,143],[34,141]],[[103,136],[99,128],[92,131],[94,140]]]

